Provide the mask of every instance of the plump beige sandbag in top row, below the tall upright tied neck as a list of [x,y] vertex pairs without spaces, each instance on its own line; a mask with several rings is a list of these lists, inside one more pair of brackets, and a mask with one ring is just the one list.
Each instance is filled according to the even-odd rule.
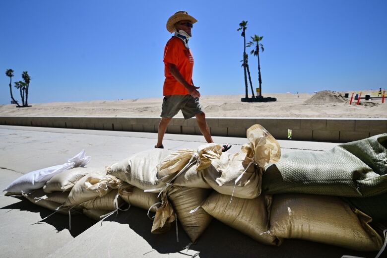
[[[246,153],[223,153],[204,169],[205,182],[220,194],[256,198],[261,192],[262,169],[245,161]],[[237,183],[236,183],[237,181]]]

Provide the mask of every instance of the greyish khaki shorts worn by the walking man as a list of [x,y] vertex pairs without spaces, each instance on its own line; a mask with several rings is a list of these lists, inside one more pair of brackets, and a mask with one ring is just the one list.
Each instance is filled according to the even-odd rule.
[[169,95],[164,97],[160,117],[173,118],[179,110],[182,111],[184,119],[190,119],[203,112],[198,98],[191,95]]

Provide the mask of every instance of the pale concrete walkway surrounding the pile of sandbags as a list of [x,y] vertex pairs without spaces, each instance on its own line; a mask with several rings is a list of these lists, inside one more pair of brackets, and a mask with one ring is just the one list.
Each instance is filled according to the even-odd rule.
[[[133,153],[151,148],[156,133],[53,129],[0,126],[0,188],[30,171],[65,161],[85,149],[92,157],[90,167],[107,166]],[[219,143],[230,143],[231,152],[240,150],[246,138],[214,137]],[[204,142],[202,136],[166,134],[164,146],[171,150],[194,148]],[[279,140],[282,153],[298,150],[324,151],[337,143]],[[95,224],[83,215],[68,217],[54,214],[45,223],[34,224],[51,211],[23,198],[0,197],[1,257],[287,257],[326,258],[362,253],[300,240],[285,240],[280,247],[264,246],[242,233],[213,220],[192,245],[179,227],[162,235],[150,233],[152,221],[146,211],[131,207]]]

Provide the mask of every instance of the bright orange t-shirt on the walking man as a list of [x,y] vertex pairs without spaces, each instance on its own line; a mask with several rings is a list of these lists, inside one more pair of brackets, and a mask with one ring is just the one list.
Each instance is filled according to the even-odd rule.
[[191,50],[187,49],[184,42],[178,37],[168,40],[164,48],[164,74],[165,81],[163,95],[188,95],[186,87],[178,82],[169,70],[169,64],[177,66],[180,73],[188,83],[192,83],[192,71],[194,69],[194,57]]

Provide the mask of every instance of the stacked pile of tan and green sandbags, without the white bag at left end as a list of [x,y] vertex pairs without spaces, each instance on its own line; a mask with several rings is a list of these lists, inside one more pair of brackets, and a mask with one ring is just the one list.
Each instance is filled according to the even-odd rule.
[[192,242],[216,218],[265,245],[296,238],[361,251],[382,247],[372,222],[386,219],[387,134],[282,158],[263,127],[249,128],[247,138],[236,153],[215,143],[154,148],[102,170],[73,168],[25,196],[96,220],[128,203],[147,210],[152,233],[179,221]]

